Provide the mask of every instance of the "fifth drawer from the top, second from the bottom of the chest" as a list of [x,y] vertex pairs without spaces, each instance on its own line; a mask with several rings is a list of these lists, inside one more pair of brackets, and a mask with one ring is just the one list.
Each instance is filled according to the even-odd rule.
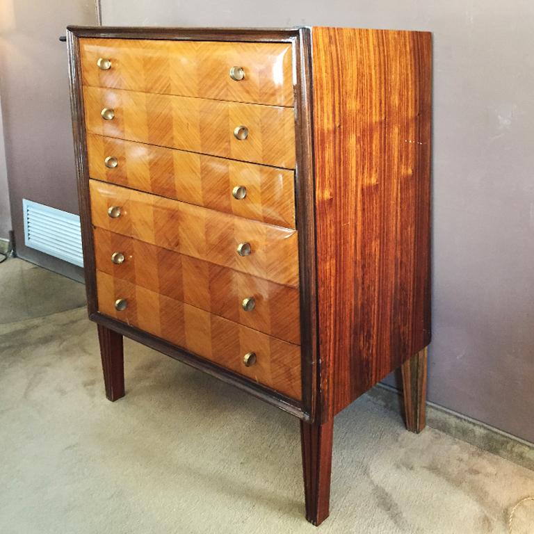
[[298,289],[102,228],[95,228],[94,237],[97,270],[284,341],[300,343]]

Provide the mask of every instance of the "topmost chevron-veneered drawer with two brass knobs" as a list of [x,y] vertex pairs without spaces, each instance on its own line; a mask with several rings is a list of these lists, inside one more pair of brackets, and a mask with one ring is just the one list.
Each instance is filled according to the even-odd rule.
[[291,44],[81,39],[80,52],[86,86],[293,106]]

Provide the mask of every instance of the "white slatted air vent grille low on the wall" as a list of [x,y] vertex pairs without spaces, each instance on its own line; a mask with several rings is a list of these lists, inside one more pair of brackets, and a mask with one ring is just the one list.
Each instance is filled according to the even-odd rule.
[[79,216],[25,198],[22,207],[27,247],[83,267]]

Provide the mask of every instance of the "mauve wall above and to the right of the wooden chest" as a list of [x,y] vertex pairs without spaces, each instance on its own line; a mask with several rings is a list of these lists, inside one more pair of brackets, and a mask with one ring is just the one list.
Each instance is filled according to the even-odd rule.
[[102,0],[102,22],[432,31],[429,398],[534,442],[531,0]]

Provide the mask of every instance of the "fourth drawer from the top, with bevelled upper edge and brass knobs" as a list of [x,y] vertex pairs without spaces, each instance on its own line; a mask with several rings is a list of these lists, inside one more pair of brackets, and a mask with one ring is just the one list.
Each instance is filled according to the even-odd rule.
[[[296,230],[102,181],[90,180],[89,186],[92,224],[97,227],[279,284],[298,286]],[[109,216],[112,207],[120,208],[120,216]],[[238,254],[243,243],[250,245],[250,254]]]

